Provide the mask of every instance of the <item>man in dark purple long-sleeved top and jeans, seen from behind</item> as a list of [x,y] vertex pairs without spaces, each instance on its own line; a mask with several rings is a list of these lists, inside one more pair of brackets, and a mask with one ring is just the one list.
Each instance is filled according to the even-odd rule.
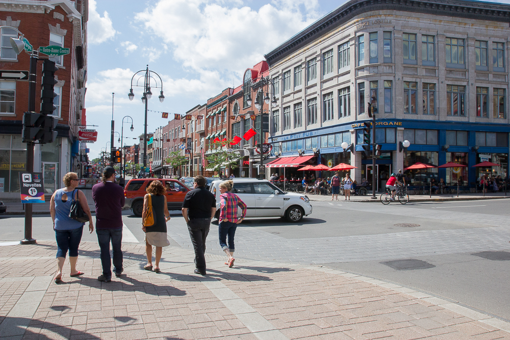
[[101,250],[103,275],[97,279],[103,282],[112,280],[112,258],[110,242],[113,249],[113,267],[115,276],[119,277],[122,268],[122,207],[124,207],[124,190],[115,184],[115,169],[106,167],[102,182],[92,187],[92,198],[96,207],[96,233]]

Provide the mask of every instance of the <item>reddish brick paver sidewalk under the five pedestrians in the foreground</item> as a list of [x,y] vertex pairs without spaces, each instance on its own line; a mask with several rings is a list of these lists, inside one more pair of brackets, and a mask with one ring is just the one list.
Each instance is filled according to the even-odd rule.
[[[2,339],[498,339],[499,319],[395,284],[322,267],[166,247],[162,273],[143,270],[144,247],[123,244],[124,274],[101,274],[98,246],[82,242],[79,278],[52,282],[55,242],[0,247]],[[504,329],[504,330],[503,330]],[[505,331],[506,330],[506,331]]]

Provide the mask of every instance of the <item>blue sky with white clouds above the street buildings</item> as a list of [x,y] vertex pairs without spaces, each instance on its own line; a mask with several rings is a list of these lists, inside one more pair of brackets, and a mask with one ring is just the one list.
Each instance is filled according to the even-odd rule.
[[[510,3],[510,0],[500,2]],[[88,126],[98,132],[89,143],[96,158],[110,141],[112,110],[115,131],[125,145],[143,134],[142,87],[127,94],[137,71],[157,72],[160,89],[151,85],[147,133],[164,126],[173,113],[184,114],[227,87],[241,85],[246,68],[273,48],[344,4],[344,0],[89,0],[87,24]],[[126,6],[127,5],[127,6]],[[133,83],[143,73],[134,77]],[[161,86],[159,77],[156,86]],[[140,83],[139,83],[140,85]],[[112,103],[112,92],[113,96]],[[157,112],[153,112],[157,111]],[[170,113],[168,119],[160,112]],[[131,118],[134,130],[131,132]],[[133,138],[136,138],[134,140]],[[120,147],[115,134],[115,147]],[[110,145],[108,144],[108,148]]]

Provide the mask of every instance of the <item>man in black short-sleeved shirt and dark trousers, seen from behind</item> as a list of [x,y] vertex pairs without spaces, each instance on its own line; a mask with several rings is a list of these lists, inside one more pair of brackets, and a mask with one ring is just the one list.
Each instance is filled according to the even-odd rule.
[[195,251],[194,273],[200,275],[206,275],[206,238],[211,220],[216,213],[216,198],[206,189],[206,183],[206,177],[202,175],[195,177],[194,189],[186,194],[182,208]]

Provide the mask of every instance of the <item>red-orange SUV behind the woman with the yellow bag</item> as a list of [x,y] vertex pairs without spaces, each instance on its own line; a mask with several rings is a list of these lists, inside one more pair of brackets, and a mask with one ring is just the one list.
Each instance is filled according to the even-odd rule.
[[124,207],[131,208],[135,216],[141,217],[143,211],[143,197],[146,194],[145,189],[153,180],[159,180],[163,183],[163,186],[165,186],[168,210],[181,210],[184,197],[190,189],[176,179],[166,178],[130,179],[124,189],[124,196],[126,198]]

